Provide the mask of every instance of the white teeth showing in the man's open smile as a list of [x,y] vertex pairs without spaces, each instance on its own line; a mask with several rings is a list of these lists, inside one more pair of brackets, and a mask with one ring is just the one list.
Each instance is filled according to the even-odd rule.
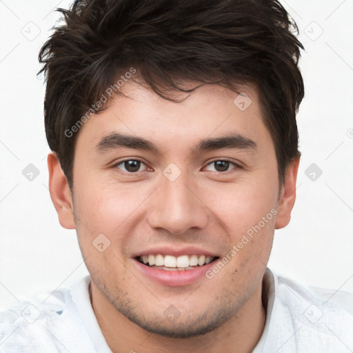
[[150,268],[157,268],[164,271],[188,271],[208,265],[208,263],[219,259],[219,256],[150,254],[137,256],[136,259]]

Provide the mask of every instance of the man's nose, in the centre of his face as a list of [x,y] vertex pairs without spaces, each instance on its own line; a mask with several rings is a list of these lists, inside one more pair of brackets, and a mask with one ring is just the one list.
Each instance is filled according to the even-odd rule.
[[161,185],[154,192],[152,204],[149,205],[149,225],[175,235],[191,228],[205,228],[209,212],[199,193],[199,188],[194,183],[188,183],[183,173],[174,181],[162,175]]

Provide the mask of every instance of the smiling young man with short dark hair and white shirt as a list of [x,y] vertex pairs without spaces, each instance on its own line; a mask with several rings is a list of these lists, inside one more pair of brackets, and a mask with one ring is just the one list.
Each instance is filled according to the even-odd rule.
[[61,12],[39,54],[50,196],[90,276],[3,313],[0,352],[352,350],[350,294],[267,269],[294,206],[304,95],[280,3]]

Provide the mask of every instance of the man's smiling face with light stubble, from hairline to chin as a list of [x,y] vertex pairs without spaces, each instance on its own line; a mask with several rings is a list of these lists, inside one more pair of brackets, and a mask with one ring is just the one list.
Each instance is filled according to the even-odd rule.
[[61,224],[92,295],[149,332],[209,332],[259,293],[281,198],[259,97],[243,92],[245,110],[219,85],[174,103],[126,83],[77,136],[74,225]]

